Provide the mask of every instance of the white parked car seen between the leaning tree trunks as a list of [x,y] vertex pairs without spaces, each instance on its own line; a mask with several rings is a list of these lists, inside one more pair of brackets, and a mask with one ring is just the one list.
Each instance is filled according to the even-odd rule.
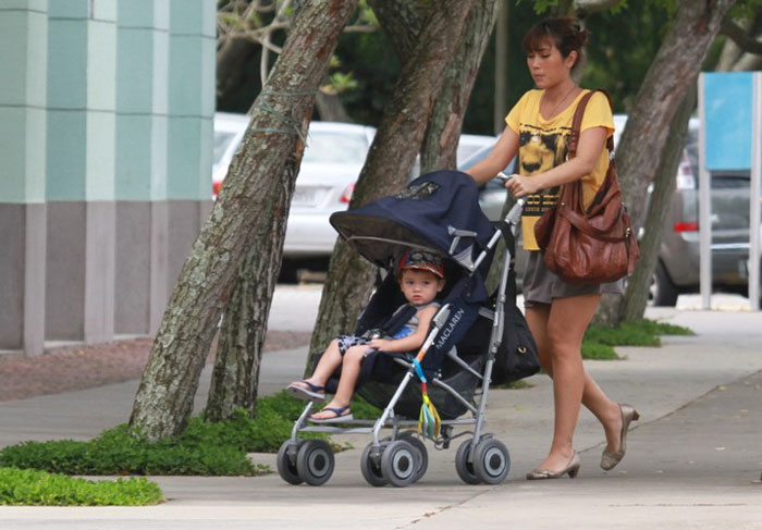
[[[213,196],[222,186],[247,125],[245,114],[214,114]],[[336,232],[329,218],[334,211],[348,207],[374,133],[373,127],[349,123],[310,124],[288,212],[284,257],[331,255]]]

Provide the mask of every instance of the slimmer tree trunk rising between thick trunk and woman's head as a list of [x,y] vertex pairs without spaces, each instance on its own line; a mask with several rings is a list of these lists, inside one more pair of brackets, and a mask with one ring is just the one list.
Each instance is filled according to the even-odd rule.
[[426,130],[420,156],[421,173],[457,167],[456,151],[463,119],[499,7],[497,0],[476,0],[468,12],[463,37],[447,65],[444,84]]

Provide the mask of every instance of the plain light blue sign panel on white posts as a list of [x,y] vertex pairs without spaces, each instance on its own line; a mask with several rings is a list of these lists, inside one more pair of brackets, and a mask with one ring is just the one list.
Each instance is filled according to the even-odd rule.
[[704,73],[709,171],[751,169],[751,72]]

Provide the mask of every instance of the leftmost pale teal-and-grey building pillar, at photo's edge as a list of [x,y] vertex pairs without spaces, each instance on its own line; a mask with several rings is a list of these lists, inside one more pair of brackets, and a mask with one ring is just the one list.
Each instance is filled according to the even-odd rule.
[[0,350],[28,355],[45,337],[47,10],[0,3]]

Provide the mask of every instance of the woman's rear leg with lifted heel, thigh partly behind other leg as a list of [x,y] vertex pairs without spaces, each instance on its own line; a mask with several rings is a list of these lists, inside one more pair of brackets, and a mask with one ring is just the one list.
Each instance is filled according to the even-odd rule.
[[[562,300],[564,298],[557,298]],[[572,298],[575,299],[575,298]],[[594,309],[593,309],[594,313]],[[553,361],[548,338],[548,320],[551,316],[550,304],[536,304],[526,308],[527,324],[537,343],[540,354],[540,365],[543,370],[553,378]],[[592,318],[592,317],[590,317]],[[585,326],[587,329],[587,325]],[[582,331],[582,335],[585,331]],[[581,340],[579,342],[581,348]],[[579,350],[579,349],[578,349]],[[581,354],[580,354],[581,358]],[[582,391],[582,405],[585,405],[603,426],[606,436],[606,448],[614,453],[619,451],[622,435],[622,414],[619,405],[611,400],[582,367],[585,386]]]

